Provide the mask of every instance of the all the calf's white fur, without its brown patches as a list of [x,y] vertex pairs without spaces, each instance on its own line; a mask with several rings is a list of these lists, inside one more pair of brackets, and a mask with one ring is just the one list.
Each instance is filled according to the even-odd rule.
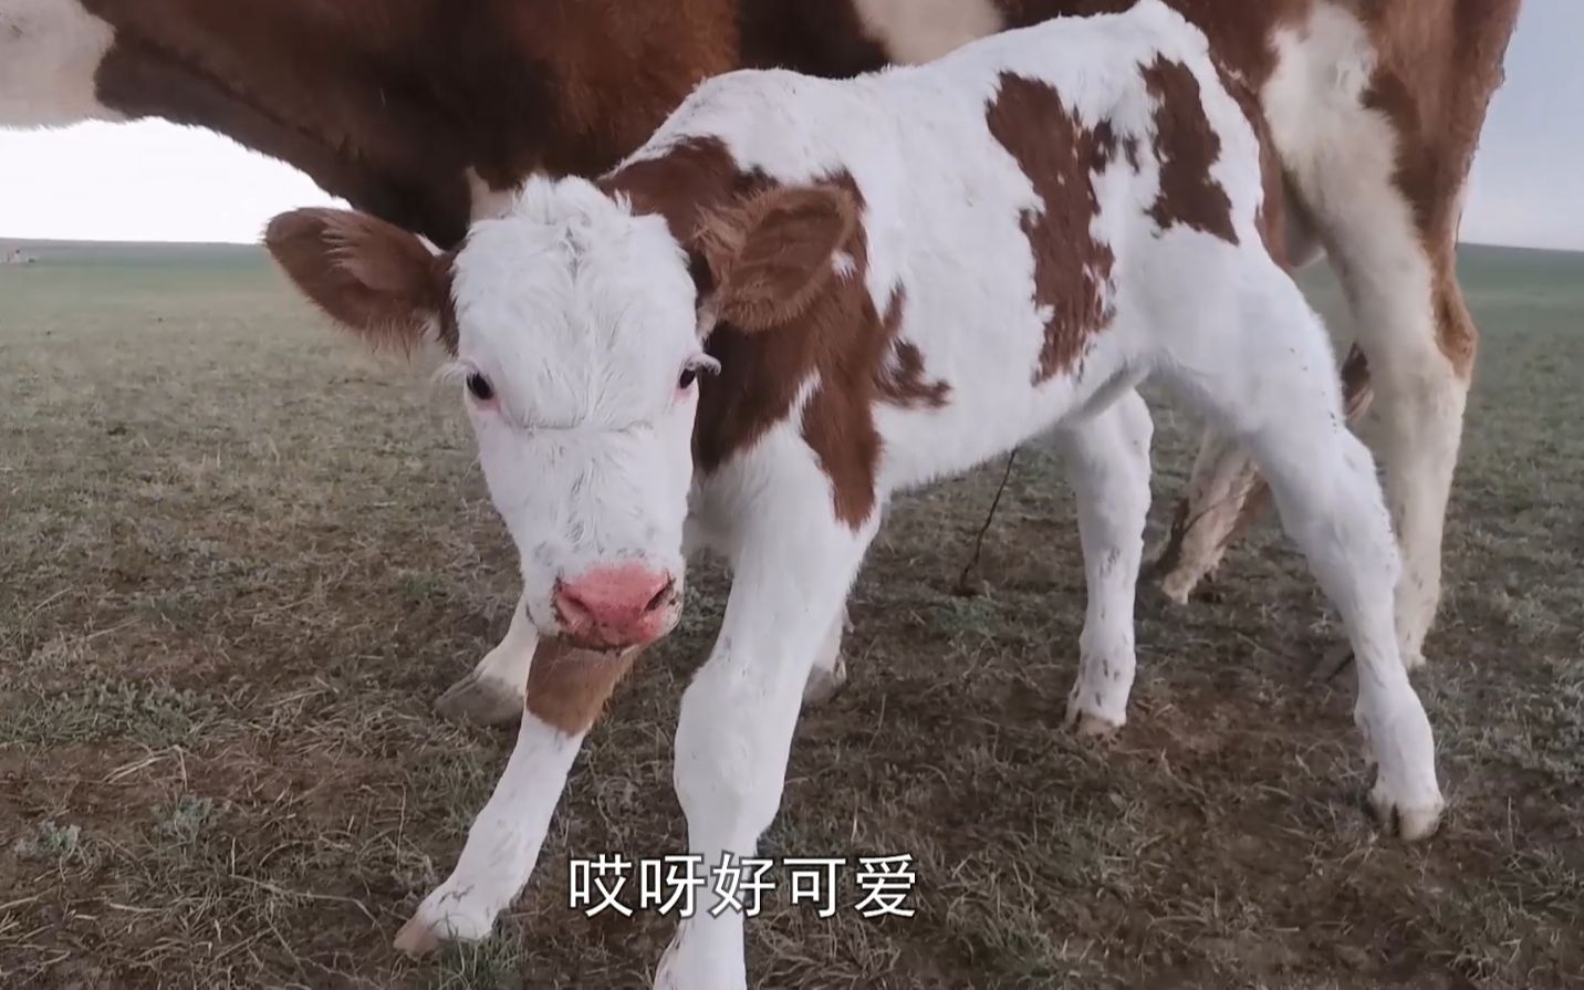
[[[1012,71],[1047,81],[1085,125],[1109,120],[1118,139],[1150,149],[1153,97],[1139,65],[1156,55],[1199,81],[1221,138],[1210,173],[1231,200],[1239,242],[1159,230],[1148,217],[1159,163],[1148,150],[1139,173],[1112,163],[1095,176],[1093,233],[1115,255],[1114,320],[1091,341],[1082,374],[1031,383],[1045,314],[1033,304],[1022,217],[1047,204],[988,131],[987,106],[1000,74]],[[1323,326],[1261,247],[1258,143],[1198,30],[1152,0],[1129,14],[1012,32],[928,67],[846,82],[732,73],[700,87],[638,157],[687,136],[716,136],[743,168],[782,184],[851,174],[866,204],[865,288],[876,310],[906,288],[901,334],[952,388],[941,409],[876,410],[878,504],[849,526],[800,432],[813,379],[759,444],[692,475],[686,436],[695,406],[672,398],[667,383],[697,345],[694,298],[681,250],[656,220],[630,217],[586,182],[539,181],[508,219],[480,225],[470,239],[456,280],[461,356],[501,393],[501,409],[475,410],[475,426],[491,493],[523,551],[535,624],[554,629],[534,611],[543,591],[535,570],[615,554],[662,561],[680,575],[673,554],[689,513],[689,531],[732,564],[721,637],[676,729],[675,782],[692,852],[703,862],[756,852],[781,800],[802,692],[828,651],[885,499],[1057,426],[1076,474],[1093,596],[1074,714],[1120,724],[1148,504],[1148,417],[1131,390],[1150,372],[1255,451],[1359,659],[1356,718],[1380,763],[1375,805],[1400,819],[1405,835],[1434,828],[1441,806],[1434,744],[1392,635],[1397,556],[1380,485],[1343,426]],[[840,271],[836,258],[832,265]],[[618,439],[632,429],[642,436]],[[676,491],[689,483],[684,505]],[[564,779],[561,762],[553,768],[532,787],[502,784],[491,821],[520,800],[539,822]],[[508,778],[523,779],[513,770]],[[475,832],[464,859],[499,844],[494,825]],[[482,882],[477,895],[448,881],[450,909],[472,931],[532,863],[523,830],[512,835],[502,879]],[[482,860],[469,859],[469,878],[474,862]],[[741,917],[711,917],[713,901],[703,900],[667,949],[657,987],[746,985]]]

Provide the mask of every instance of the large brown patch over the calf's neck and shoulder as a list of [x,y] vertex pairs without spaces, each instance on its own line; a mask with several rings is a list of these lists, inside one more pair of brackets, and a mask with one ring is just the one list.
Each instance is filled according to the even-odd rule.
[[[683,143],[664,157],[613,173],[602,184],[629,196],[635,209],[664,215],[676,238],[700,253],[695,268],[706,298],[718,288],[729,290],[733,263],[721,261],[721,252],[744,236],[735,233],[744,227],[743,211],[752,214],[756,203],[760,208],[773,203],[770,196],[784,201],[789,192],[808,195],[808,190],[778,190],[767,176],[738,168],[725,146],[713,139]],[[821,196],[846,201],[854,219],[862,214],[863,195],[849,176],[830,176],[819,188]],[[733,231],[725,239],[722,225]],[[803,385],[817,374],[821,383],[803,409],[800,429],[832,480],[836,516],[857,527],[876,504],[881,437],[874,406],[939,407],[950,385],[930,380],[917,347],[900,336],[903,287],[893,290],[884,314],[876,310],[865,287],[863,225],[843,223],[838,230],[846,230],[840,250],[852,258],[852,271],[843,277],[827,274],[824,288],[800,301],[795,318],[779,322],[776,317],[789,314],[754,306],[737,314],[749,317],[748,326],[722,318],[710,333],[706,350],[721,361],[721,374],[700,382],[694,459],[699,470],[713,472],[752,447],[792,415]],[[821,247],[805,255],[800,266],[822,255],[828,272],[830,250],[836,249],[824,246],[836,241],[828,231],[816,238]],[[749,247],[748,255],[757,250]],[[708,260],[711,252],[714,261]],[[719,315],[729,315],[732,306],[721,309]]]

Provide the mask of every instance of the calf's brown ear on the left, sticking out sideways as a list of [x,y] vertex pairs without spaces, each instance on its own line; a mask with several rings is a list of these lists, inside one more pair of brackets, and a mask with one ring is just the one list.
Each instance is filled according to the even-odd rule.
[[369,347],[410,353],[434,341],[456,353],[450,253],[344,209],[280,214],[265,246],[303,295]]

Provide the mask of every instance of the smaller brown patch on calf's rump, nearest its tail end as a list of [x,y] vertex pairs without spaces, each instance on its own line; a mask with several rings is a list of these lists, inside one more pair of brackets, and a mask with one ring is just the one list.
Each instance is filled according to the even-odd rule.
[[1144,68],[1144,86],[1156,98],[1155,157],[1161,192],[1150,219],[1161,230],[1188,227],[1237,244],[1232,201],[1210,176],[1221,157],[1221,136],[1204,116],[1199,79],[1182,62],[1156,59]]

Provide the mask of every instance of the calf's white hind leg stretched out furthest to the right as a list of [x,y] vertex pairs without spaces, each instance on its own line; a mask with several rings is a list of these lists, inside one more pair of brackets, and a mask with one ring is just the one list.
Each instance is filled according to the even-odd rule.
[[1400,565],[1375,464],[1343,421],[1319,320],[1274,266],[1267,282],[1245,290],[1243,318],[1218,361],[1185,353],[1169,374],[1255,451],[1285,529],[1348,630],[1354,719],[1380,767],[1372,805],[1388,828],[1421,838],[1435,832],[1443,802],[1430,722],[1399,654]]

